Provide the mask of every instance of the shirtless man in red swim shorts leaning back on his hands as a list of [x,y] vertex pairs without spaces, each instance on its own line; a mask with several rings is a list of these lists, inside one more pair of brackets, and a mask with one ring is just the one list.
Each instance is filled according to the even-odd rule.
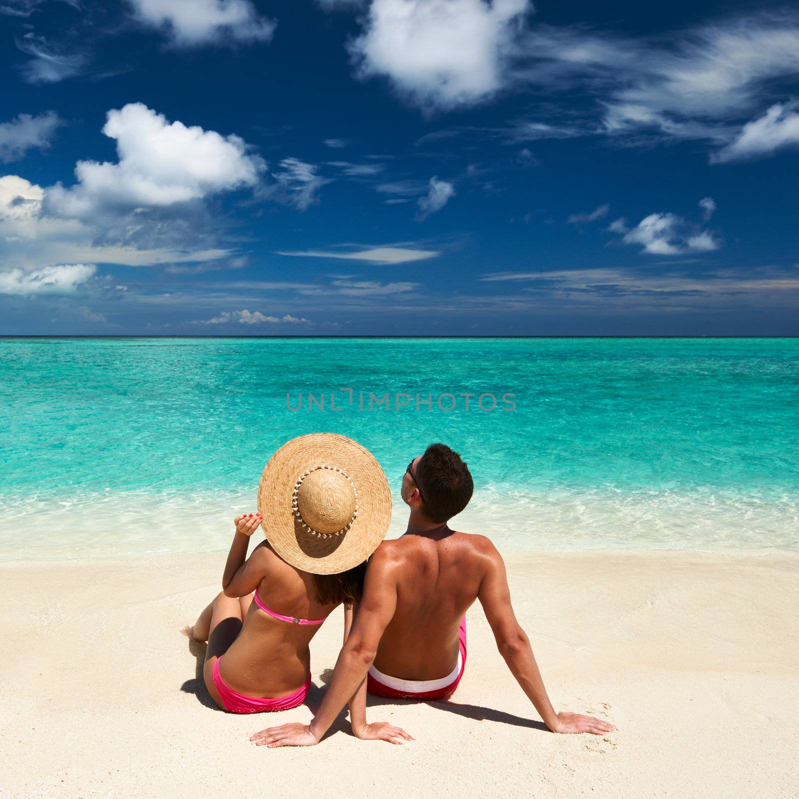
[[[475,599],[500,654],[549,729],[598,735],[615,729],[592,716],[555,713],[530,641],[516,621],[502,557],[485,536],[447,527],[472,490],[467,464],[444,444],[431,444],[411,461],[401,491],[411,509],[407,532],[384,541],[369,559],[352,631],[316,716],[310,725],[271,727],[251,740],[272,748],[316,744],[363,690],[364,679],[368,691],[380,696],[451,696],[466,665],[465,613]],[[401,743],[405,734],[392,742]]]

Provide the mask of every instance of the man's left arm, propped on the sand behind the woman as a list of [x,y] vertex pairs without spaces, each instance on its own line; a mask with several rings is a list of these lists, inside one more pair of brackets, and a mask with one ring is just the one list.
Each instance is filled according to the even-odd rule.
[[[264,729],[250,740],[270,748],[316,744],[328,731],[336,716],[366,679],[377,654],[377,645],[396,610],[396,565],[391,555],[379,547],[366,570],[364,596],[352,622],[352,630],[342,646],[324,699],[310,725],[284,724]],[[410,739],[407,733],[402,736]],[[400,742],[400,741],[394,741]]]

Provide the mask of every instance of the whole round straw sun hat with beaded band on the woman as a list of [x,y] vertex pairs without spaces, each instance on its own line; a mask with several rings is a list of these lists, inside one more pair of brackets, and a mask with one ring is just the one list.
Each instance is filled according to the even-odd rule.
[[284,561],[312,574],[352,569],[388,531],[392,495],[380,463],[345,435],[284,443],[260,477],[264,535]]

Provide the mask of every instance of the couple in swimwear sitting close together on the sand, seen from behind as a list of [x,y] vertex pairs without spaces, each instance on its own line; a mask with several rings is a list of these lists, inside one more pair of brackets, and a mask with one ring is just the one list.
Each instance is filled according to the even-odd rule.
[[[407,532],[383,541],[391,493],[368,450],[343,435],[318,433],[276,451],[260,480],[258,512],[235,519],[222,593],[184,632],[208,642],[205,685],[232,713],[302,704],[311,683],[308,644],[342,603],[344,646],[310,725],[272,727],[250,740],[269,747],[316,744],[348,703],[356,737],[411,740],[399,727],[367,723],[366,694],[449,698],[466,666],[465,614],[475,599],[549,729],[615,729],[553,709],[516,621],[499,552],[482,535],[447,527],[471,493],[467,464],[449,447],[432,444],[403,475]],[[247,558],[249,538],[261,526],[266,540]]]

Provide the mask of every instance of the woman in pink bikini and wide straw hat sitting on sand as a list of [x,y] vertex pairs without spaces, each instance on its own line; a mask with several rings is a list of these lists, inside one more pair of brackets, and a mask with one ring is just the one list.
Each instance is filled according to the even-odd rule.
[[[308,645],[344,603],[344,639],[360,598],[366,559],[391,519],[388,481],[374,456],[343,435],[317,433],[280,447],[261,475],[258,512],[237,516],[222,593],[183,630],[208,641],[205,686],[232,713],[286,710],[311,684]],[[266,540],[247,558],[250,536]],[[366,686],[350,703],[356,737],[410,736],[366,722]]]

